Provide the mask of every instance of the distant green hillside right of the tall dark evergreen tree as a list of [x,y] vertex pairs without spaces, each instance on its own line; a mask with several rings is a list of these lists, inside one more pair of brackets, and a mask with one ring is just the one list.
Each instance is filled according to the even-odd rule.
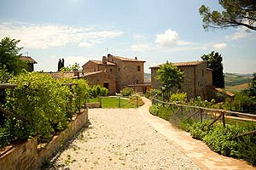
[[237,73],[224,73],[225,87],[236,86],[250,82],[253,79],[253,74],[237,74]]

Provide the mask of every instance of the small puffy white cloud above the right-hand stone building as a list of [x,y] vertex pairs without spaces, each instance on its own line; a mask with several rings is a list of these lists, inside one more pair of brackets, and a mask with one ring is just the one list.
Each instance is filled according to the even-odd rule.
[[162,47],[170,47],[173,45],[189,45],[192,42],[185,42],[179,39],[177,31],[172,31],[168,29],[163,34],[157,34],[155,42]]

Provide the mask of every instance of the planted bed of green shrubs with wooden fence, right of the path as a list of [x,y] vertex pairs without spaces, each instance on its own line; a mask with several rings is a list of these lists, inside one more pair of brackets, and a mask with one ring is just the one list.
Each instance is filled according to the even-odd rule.
[[255,115],[241,113],[249,117],[241,118],[232,114],[237,113],[235,111],[219,109],[222,107],[219,105],[225,104],[202,101],[200,97],[187,101],[184,93],[171,94],[167,102],[162,102],[161,98],[160,95],[158,99],[156,95],[151,98],[151,114],[189,132],[192,138],[202,140],[218,154],[256,165]]

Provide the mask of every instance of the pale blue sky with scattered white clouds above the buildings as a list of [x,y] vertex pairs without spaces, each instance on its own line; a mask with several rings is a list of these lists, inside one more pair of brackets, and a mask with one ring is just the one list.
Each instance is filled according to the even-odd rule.
[[256,31],[205,31],[198,9],[222,10],[217,0],[1,0],[0,38],[19,39],[35,71],[57,71],[113,54],[145,60],[148,67],[201,60],[212,50],[224,72],[256,72]]

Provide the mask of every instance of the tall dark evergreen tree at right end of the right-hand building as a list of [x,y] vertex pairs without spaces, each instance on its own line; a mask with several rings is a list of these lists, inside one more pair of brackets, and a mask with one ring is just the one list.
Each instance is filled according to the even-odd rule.
[[212,51],[210,54],[204,54],[201,59],[208,61],[208,68],[212,69],[212,85],[218,88],[224,88],[224,73],[221,54]]

